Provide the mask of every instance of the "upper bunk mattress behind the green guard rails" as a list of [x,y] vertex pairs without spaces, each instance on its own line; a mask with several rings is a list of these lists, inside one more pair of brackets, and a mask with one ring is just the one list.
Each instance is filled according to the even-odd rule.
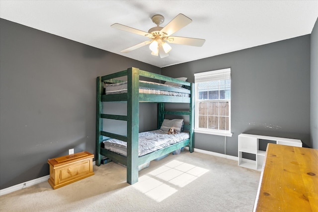
[[[157,83],[157,82],[149,82],[149,81],[141,81],[141,82],[164,85],[167,87],[176,87],[173,85],[161,84],[161,83]],[[114,84],[104,84],[104,87],[105,87],[105,94],[127,93],[127,81],[120,82],[120,83],[114,83]],[[176,88],[181,88],[181,87],[176,87]],[[188,91],[188,89],[185,89],[185,88],[181,88],[181,89]],[[188,94],[188,93],[173,92],[173,91],[167,91],[167,90],[156,90],[156,89],[147,88],[147,87],[140,87],[139,93],[168,95],[168,96],[182,96],[182,97],[189,97],[190,96],[190,94]]]

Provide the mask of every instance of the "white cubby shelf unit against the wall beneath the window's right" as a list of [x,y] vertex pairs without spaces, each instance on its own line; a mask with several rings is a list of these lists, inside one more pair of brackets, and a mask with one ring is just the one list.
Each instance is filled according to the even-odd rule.
[[[261,141],[260,141],[261,140]],[[262,141],[265,140],[265,141]],[[265,149],[259,149],[260,142],[275,142],[276,144],[298,146],[302,147],[303,143],[298,139],[287,139],[271,136],[259,136],[251,134],[239,134],[239,166],[255,169],[258,171],[262,170]],[[243,158],[244,153],[249,153],[254,155],[255,160]]]

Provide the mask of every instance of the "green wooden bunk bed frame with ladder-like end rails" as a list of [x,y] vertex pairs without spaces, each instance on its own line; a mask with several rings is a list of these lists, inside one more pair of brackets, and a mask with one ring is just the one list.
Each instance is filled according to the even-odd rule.
[[[120,80],[120,78],[127,80]],[[159,83],[147,83],[141,81],[144,78],[150,78],[149,81],[166,81],[170,83],[178,83],[181,87],[165,86]],[[105,94],[104,82],[119,83],[126,82],[127,92],[118,94]],[[169,96],[152,93],[140,93],[140,87],[147,89],[158,89],[161,91],[171,92],[186,92],[187,97],[183,96]],[[184,89],[186,88],[186,89]],[[114,162],[123,164],[127,167],[127,183],[134,184],[138,182],[138,167],[142,164],[150,162],[156,158],[166,155],[170,152],[178,150],[184,146],[189,147],[189,151],[194,150],[194,83],[178,80],[175,78],[163,76],[157,73],[142,71],[137,68],[129,68],[124,71],[108,74],[105,76],[98,76],[96,79],[96,151],[95,163],[100,166],[101,160],[105,157]],[[103,113],[103,102],[127,102],[127,116],[112,115]],[[149,102],[158,103],[158,129],[164,121],[166,114],[189,116],[189,124],[184,124],[183,132],[189,133],[189,138],[180,141],[159,150],[139,156],[139,103]],[[188,103],[189,110],[187,111],[166,111],[164,103]],[[113,119],[127,121],[127,136],[118,135],[111,132],[103,131],[103,120]],[[115,153],[102,147],[105,138],[113,138],[120,141],[127,142],[127,154]],[[106,139],[107,140],[107,139]]]

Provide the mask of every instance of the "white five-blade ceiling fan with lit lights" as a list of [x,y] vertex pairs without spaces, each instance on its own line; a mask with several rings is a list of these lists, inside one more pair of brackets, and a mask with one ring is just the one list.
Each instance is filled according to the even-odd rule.
[[142,36],[146,36],[150,39],[150,41],[144,41],[140,44],[124,49],[120,52],[127,53],[150,44],[149,48],[152,51],[151,53],[152,55],[156,55],[156,56],[160,55],[160,58],[165,58],[169,56],[168,52],[172,49],[171,46],[167,44],[165,41],[172,44],[182,44],[182,45],[197,46],[197,47],[201,47],[205,42],[204,39],[199,39],[199,38],[171,36],[173,33],[175,33],[176,31],[180,30],[181,28],[185,27],[186,25],[192,22],[192,20],[188,18],[187,16],[185,16],[184,14],[181,14],[181,13],[178,14],[164,27],[159,26],[164,21],[164,17],[162,15],[159,15],[159,14],[154,15],[152,17],[152,20],[155,24],[157,24],[157,26],[151,28],[148,32],[134,29],[132,27],[125,26],[119,23],[112,24],[111,27],[113,28],[124,30],[134,34],[142,35]]

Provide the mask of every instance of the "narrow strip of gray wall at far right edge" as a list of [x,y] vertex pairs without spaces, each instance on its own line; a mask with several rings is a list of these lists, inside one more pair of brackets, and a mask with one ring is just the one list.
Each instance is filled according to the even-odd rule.
[[318,149],[318,19],[311,34],[310,132],[311,146]]

